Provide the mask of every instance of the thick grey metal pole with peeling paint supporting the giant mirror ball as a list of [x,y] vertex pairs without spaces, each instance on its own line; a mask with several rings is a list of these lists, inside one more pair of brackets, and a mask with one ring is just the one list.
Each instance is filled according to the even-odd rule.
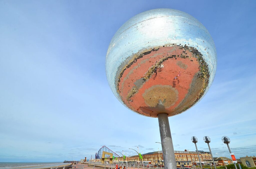
[[164,168],[177,169],[168,115],[166,113],[160,113],[157,116],[162,142]]

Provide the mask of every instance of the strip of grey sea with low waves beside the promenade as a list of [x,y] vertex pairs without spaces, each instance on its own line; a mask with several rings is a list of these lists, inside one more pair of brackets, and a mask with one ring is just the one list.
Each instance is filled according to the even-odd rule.
[[47,168],[47,167],[56,167],[59,165],[65,165],[69,163],[63,162],[41,162],[41,163],[6,163],[0,162],[0,169],[36,169],[36,168]]

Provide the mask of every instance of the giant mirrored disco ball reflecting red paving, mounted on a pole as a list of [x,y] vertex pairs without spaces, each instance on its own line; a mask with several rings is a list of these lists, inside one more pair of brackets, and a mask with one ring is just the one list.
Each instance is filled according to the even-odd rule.
[[152,9],[125,22],[106,54],[106,76],[118,100],[149,117],[177,115],[206,94],[217,54],[207,29],[174,9]]

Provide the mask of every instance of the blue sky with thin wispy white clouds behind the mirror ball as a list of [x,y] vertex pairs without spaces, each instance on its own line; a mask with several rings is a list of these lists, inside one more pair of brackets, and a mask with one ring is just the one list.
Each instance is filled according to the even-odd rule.
[[[227,156],[256,139],[256,1],[0,1],[0,162],[94,157],[101,146],[157,151],[158,120],[125,108],[105,75],[111,38],[134,15],[182,10],[215,41],[218,66],[206,96],[169,117],[175,150]],[[217,154],[216,154],[217,153]],[[241,150],[236,157],[256,155]]]

